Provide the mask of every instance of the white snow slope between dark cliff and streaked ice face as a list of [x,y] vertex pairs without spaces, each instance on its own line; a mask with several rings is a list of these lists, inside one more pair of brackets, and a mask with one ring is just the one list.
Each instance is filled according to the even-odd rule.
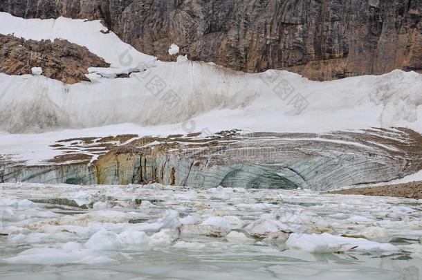
[[[110,124],[181,124],[210,131],[331,131],[403,126],[422,131],[422,75],[312,82],[286,71],[246,74],[214,64],[159,62],[123,43],[99,21],[20,19],[0,13],[0,33],[26,39],[62,38],[111,63],[91,68],[94,81],[62,84],[42,76],[0,74],[0,129],[35,132]],[[129,78],[100,77],[131,73]],[[105,73],[105,74],[104,74]],[[113,75],[111,75],[113,76]],[[174,127],[174,126],[172,126]]]

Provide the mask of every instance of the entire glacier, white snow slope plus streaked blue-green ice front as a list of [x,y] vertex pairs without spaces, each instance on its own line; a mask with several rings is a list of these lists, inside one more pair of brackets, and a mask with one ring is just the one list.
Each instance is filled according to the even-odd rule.
[[[401,144],[414,143],[419,150],[418,73],[313,82],[286,71],[241,73],[183,56],[160,62],[105,32],[100,21],[20,19],[0,12],[0,26],[0,33],[26,39],[67,39],[111,64],[89,68],[91,82],[77,84],[0,73],[1,182],[321,190],[396,180],[420,170],[420,154]],[[129,77],[118,78],[121,73]],[[225,137],[218,133],[233,129],[268,137],[213,147],[214,140]],[[185,139],[194,133],[202,140]],[[374,139],[360,139],[374,137],[371,133]],[[124,134],[134,138],[96,142]],[[140,138],[177,134],[181,141],[149,143],[158,146],[147,156],[121,152],[123,147],[145,149],[136,141]],[[95,140],[80,147],[77,139],[84,137]],[[389,138],[401,140],[391,144]],[[65,139],[75,142],[60,142]],[[194,153],[190,141],[208,145],[201,159],[187,154]],[[257,153],[274,145],[277,151]],[[254,154],[238,156],[239,149]]]

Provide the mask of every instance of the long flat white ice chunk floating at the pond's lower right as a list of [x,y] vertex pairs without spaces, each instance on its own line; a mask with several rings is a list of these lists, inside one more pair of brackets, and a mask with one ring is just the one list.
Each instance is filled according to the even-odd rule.
[[396,251],[398,248],[389,243],[376,243],[367,239],[354,239],[331,234],[291,234],[286,245],[290,249],[310,253],[332,253],[355,251]]

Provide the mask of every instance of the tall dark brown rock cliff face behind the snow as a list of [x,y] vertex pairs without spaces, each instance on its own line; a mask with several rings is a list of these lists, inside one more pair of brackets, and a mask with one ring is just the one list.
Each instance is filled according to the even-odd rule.
[[421,0],[6,0],[19,17],[103,19],[138,50],[314,80],[422,69]]

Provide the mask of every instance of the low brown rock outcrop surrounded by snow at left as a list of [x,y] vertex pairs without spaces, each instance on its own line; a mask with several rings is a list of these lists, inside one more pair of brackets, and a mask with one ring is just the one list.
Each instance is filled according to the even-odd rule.
[[89,67],[109,67],[104,59],[86,47],[69,41],[26,40],[0,35],[0,72],[8,75],[30,74],[32,67],[41,67],[42,75],[66,84],[89,81]]

